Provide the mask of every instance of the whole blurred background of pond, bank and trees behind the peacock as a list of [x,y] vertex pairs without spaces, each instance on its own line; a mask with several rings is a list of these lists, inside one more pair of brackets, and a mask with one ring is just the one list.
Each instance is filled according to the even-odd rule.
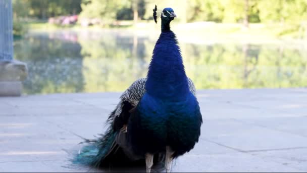
[[13,0],[23,93],[120,92],[145,77],[155,4],[174,9],[198,90],[307,86],[307,0]]

